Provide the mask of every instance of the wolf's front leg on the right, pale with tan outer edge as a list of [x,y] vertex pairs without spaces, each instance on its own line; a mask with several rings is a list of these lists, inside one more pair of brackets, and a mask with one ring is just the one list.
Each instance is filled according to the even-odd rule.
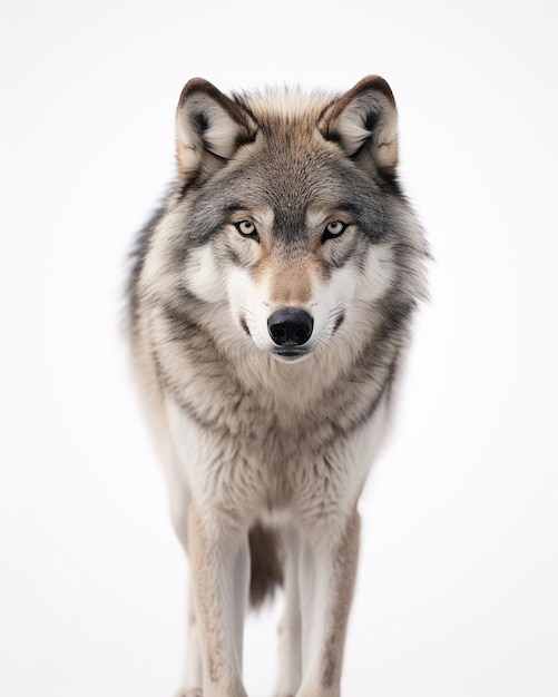
[[320,543],[301,553],[303,676],[296,697],[339,697],[346,624],[359,559],[360,517],[354,511]]

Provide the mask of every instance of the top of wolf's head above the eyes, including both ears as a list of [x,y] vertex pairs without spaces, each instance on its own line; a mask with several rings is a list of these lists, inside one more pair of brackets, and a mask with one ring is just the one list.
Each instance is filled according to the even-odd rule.
[[[385,234],[394,177],[391,90],[366,78],[345,96],[267,89],[232,98],[190,80],[177,110],[178,167],[195,242],[232,212],[271,208],[284,230],[302,230],[310,207],[352,214],[371,238]],[[378,157],[390,147],[391,158]]]

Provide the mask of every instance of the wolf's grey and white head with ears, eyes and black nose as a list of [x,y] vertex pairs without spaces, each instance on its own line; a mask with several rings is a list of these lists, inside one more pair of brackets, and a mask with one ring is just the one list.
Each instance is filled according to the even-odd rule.
[[333,97],[229,98],[190,80],[177,164],[151,279],[175,306],[178,288],[213,306],[236,340],[283,362],[355,348],[422,295],[422,235],[397,181],[397,109],[382,78]]

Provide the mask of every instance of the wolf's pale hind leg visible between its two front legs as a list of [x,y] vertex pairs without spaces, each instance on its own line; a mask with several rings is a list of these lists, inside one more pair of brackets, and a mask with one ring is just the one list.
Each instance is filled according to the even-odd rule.
[[285,549],[285,609],[278,626],[277,697],[292,697],[301,685],[302,636],[301,598],[298,591],[300,536],[295,528],[283,534]]

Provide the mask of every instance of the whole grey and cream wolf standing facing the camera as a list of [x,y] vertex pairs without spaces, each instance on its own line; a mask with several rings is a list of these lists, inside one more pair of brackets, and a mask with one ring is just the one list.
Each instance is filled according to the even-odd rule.
[[284,588],[278,697],[337,697],[358,502],[425,298],[385,80],[176,112],[177,175],[134,251],[135,374],[190,567],[180,695],[245,697],[243,622]]

